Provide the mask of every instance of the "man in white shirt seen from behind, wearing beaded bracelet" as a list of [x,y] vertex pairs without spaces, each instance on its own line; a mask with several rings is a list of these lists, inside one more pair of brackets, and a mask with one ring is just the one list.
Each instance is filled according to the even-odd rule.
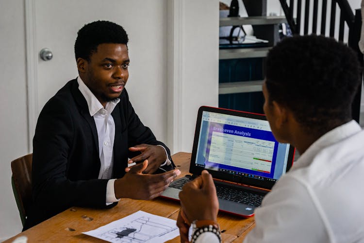
[[[244,242],[364,242],[364,131],[351,118],[359,70],[355,52],[323,36],[285,38],[268,53],[264,112],[275,138],[301,156],[255,210]],[[181,241],[194,222],[193,242],[218,242],[211,175],[180,199]]]

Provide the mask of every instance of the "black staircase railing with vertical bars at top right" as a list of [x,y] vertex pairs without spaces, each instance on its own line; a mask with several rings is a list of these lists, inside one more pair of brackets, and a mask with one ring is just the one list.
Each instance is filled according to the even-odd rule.
[[[355,11],[355,15],[347,0],[321,0],[321,7],[318,7],[318,0],[304,0],[304,9],[302,9],[303,0],[280,0],[284,15],[287,18],[287,23],[294,35],[326,35],[327,25],[329,36],[336,38],[338,41],[344,41],[345,23],[347,24],[348,36],[347,45],[358,53],[358,60],[363,67],[363,54],[359,50],[358,42],[362,26],[362,17],[360,9]],[[313,2],[312,10],[310,4]],[[330,4],[331,3],[331,4]],[[289,5],[288,5],[289,4]],[[296,13],[294,13],[296,6]],[[330,19],[327,17],[327,10],[330,6]],[[335,36],[336,27],[336,10],[339,7],[339,32]],[[312,15],[310,14],[312,12]],[[296,17],[294,16],[296,14]],[[321,17],[320,24],[318,19]],[[303,31],[301,25],[303,22]],[[310,26],[310,22],[312,26]],[[312,28],[310,28],[312,27]],[[318,32],[318,28],[319,32]],[[311,32],[309,32],[311,29]],[[359,122],[360,106],[361,106],[361,91],[362,85],[355,95],[352,104],[353,119]]]

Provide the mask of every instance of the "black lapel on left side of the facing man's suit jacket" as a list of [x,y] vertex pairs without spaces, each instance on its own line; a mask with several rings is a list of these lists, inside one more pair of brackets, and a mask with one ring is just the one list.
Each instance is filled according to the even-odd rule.
[[83,97],[81,91],[78,89],[78,83],[77,79],[73,80],[73,84],[71,87],[71,92],[73,97],[75,98],[76,103],[79,106],[79,110],[83,118],[87,121],[88,125],[90,126],[90,129],[92,131],[92,135],[94,138],[94,144],[96,146],[96,149],[98,151],[99,155],[99,136],[96,128],[96,123],[93,117],[90,116],[90,112],[88,110],[87,102],[85,98]]

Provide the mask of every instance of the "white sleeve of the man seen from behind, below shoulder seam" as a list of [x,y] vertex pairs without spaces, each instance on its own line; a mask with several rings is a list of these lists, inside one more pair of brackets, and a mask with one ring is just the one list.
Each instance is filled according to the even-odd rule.
[[313,190],[283,176],[255,210],[256,226],[244,243],[331,242],[315,198]]

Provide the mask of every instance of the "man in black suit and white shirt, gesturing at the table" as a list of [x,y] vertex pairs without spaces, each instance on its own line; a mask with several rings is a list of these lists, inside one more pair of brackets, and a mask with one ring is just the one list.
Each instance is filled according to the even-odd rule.
[[24,229],[71,206],[111,208],[120,198],[155,198],[180,174],[124,90],[127,43],[125,30],[109,21],[86,24],[78,32],[79,77],[61,88],[38,118],[33,205]]

